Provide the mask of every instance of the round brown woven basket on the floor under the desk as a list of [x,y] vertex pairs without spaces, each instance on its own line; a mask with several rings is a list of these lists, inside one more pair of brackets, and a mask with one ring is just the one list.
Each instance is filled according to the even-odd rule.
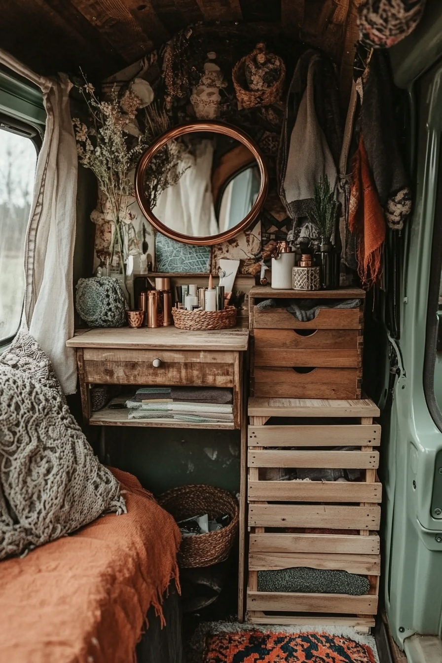
[[177,521],[205,513],[212,520],[228,513],[232,520],[227,527],[183,538],[178,551],[178,566],[200,568],[227,560],[239,527],[239,507],[235,497],[221,488],[199,484],[172,488],[158,497],[158,504]]

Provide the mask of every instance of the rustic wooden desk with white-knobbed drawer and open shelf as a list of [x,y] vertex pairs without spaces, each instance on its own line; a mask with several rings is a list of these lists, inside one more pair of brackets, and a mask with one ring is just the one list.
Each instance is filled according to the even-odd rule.
[[[184,331],[97,329],[79,332],[67,343],[76,349],[85,423],[95,426],[165,426],[168,428],[241,428],[245,329]],[[91,412],[91,385],[124,387],[128,396],[140,386],[228,387],[233,392],[233,422],[162,422],[129,419],[125,409]]]

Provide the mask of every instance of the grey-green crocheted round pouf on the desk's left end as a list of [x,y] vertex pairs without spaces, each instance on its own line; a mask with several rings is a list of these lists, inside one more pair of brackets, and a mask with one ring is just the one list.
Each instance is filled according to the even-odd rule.
[[76,308],[80,318],[91,327],[122,327],[126,322],[123,288],[111,276],[80,278]]

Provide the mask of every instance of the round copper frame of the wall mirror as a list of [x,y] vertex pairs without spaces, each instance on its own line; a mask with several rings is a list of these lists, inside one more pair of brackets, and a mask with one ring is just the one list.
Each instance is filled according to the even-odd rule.
[[[252,209],[249,211],[247,216],[244,219],[235,225],[235,227],[230,228],[229,230],[219,233],[218,235],[208,235],[201,237],[193,237],[191,235],[182,235],[166,225],[161,223],[160,219],[157,219],[152,210],[148,207],[148,202],[144,194],[144,173],[146,168],[150,164],[150,161],[155,156],[157,152],[160,151],[168,141],[176,139],[187,133],[197,133],[199,131],[213,131],[213,133],[221,133],[230,138],[236,139],[239,143],[243,143],[250,152],[252,152],[256,162],[258,164],[259,173],[260,173],[260,188],[258,192],[258,197],[256,198],[255,204]],[[233,127],[221,122],[215,121],[205,121],[205,122],[190,122],[184,125],[179,125],[163,133],[156,142],[151,145],[145,152],[142,154],[140,160],[138,161],[137,170],[135,171],[135,196],[137,198],[138,205],[140,210],[148,219],[148,221],[153,225],[156,230],[160,231],[162,235],[166,235],[170,239],[175,239],[176,241],[182,242],[184,244],[193,244],[197,246],[207,246],[212,244],[217,244],[219,242],[227,241],[236,235],[239,235],[242,231],[246,230],[249,225],[256,219],[262,206],[264,205],[264,200],[266,200],[268,190],[268,174],[266,164],[264,163],[264,158],[262,153],[258,148],[258,145],[250,139],[250,137],[241,129]]]

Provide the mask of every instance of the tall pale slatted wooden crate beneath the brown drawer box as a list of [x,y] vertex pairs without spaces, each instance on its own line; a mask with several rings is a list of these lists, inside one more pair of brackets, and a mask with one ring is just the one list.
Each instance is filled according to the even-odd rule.
[[[376,474],[380,426],[373,422],[378,414],[368,399],[249,399],[248,621],[345,624],[365,630],[374,625],[382,499]],[[276,419],[266,426],[272,416],[295,419],[293,425]],[[324,418],[327,422],[321,424]],[[339,449],[347,446],[355,449]],[[262,477],[266,468],[288,467],[360,469],[362,477],[349,483]],[[365,575],[370,590],[363,596],[258,591],[258,572],[301,566]]]

